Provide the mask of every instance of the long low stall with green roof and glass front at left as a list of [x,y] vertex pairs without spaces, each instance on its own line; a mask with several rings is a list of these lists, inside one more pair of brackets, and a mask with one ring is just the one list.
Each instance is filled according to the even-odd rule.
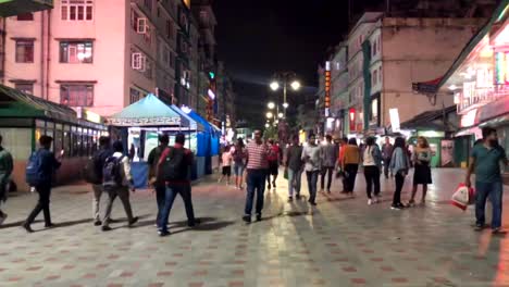
[[100,136],[108,135],[103,120],[89,111],[76,111],[58,103],[0,85],[0,135],[14,158],[13,182],[27,191],[26,162],[42,135],[51,136],[51,150],[63,150],[62,167],[55,183],[79,179],[88,157],[98,149]]

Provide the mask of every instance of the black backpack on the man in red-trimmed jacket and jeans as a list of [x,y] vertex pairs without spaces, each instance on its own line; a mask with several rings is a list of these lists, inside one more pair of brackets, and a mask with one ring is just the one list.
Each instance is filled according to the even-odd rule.
[[158,170],[158,179],[163,182],[187,179],[187,164],[185,149],[169,148],[163,152]]

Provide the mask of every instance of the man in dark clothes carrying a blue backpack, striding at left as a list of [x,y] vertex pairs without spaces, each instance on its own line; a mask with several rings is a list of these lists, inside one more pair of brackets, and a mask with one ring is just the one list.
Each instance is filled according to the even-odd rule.
[[[51,223],[50,216],[50,196],[51,196],[51,184],[52,177],[55,170],[58,170],[61,165],[60,161],[54,157],[53,152],[50,151],[51,142],[53,141],[52,137],[49,136],[41,136],[39,138],[40,148],[37,152],[39,152],[39,157],[41,158],[41,165],[40,165],[40,183],[35,187],[37,194],[39,194],[39,201],[37,205],[34,208],[32,213],[26,219],[25,223],[23,224],[23,228],[26,232],[33,233],[34,230],[30,227],[30,224],[34,223],[35,219],[39,213],[42,211],[45,214],[45,227],[51,228],[53,224]],[[62,153],[59,154],[59,158],[62,157]]]

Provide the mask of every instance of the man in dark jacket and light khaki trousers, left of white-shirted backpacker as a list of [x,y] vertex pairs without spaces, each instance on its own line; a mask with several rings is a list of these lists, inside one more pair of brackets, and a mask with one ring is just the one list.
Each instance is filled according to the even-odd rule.
[[100,200],[102,196],[102,166],[104,166],[105,160],[113,154],[110,145],[109,137],[100,137],[99,138],[99,150],[94,155],[94,172],[97,176],[97,183],[92,184],[94,190],[94,204],[92,204],[92,216],[94,216],[94,225],[101,226],[101,215],[99,212]]

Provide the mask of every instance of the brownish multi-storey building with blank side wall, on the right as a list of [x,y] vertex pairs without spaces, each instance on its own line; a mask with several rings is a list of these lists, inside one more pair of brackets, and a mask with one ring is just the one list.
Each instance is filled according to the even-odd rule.
[[[440,76],[484,21],[365,13],[347,41],[344,133],[389,127],[392,109],[397,109],[400,122],[405,122],[423,111],[436,110],[436,104],[438,108],[452,104],[450,97],[436,95],[429,99],[414,93],[412,83]],[[339,84],[336,88],[342,91]]]

